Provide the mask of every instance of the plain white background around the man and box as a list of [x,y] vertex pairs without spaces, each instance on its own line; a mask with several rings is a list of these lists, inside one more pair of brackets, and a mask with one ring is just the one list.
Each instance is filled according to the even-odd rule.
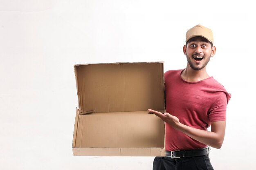
[[74,64],[186,67],[187,29],[212,29],[208,73],[232,97],[216,170],[255,168],[255,13],[249,2],[0,0],[0,169],[150,170],[154,157],[72,155]]

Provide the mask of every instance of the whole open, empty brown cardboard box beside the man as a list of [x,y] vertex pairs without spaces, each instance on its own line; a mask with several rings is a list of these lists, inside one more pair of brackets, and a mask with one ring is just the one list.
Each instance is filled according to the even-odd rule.
[[74,66],[73,155],[165,156],[163,62]]

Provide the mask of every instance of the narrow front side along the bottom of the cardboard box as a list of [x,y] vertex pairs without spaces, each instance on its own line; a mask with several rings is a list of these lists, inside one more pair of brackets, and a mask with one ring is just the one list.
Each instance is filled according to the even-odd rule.
[[165,157],[165,148],[72,148],[75,156]]

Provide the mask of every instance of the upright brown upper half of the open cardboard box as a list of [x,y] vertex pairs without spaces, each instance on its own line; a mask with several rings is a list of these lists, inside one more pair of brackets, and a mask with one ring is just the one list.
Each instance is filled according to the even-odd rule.
[[80,112],[164,110],[163,62],[75,65]]

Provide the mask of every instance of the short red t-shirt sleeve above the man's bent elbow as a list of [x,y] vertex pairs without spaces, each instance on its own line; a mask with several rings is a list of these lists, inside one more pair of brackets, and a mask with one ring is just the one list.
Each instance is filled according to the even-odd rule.
[[213,121],[226,120],[227,96],[223,92],[209,110],[209,119]]

